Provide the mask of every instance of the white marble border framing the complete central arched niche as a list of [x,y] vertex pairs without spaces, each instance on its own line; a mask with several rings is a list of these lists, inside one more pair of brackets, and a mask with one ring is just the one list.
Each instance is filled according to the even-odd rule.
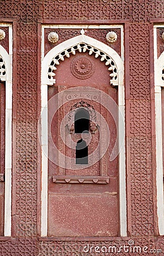
[[[75,27],[75,26],[74,26]],[[96,26],[95,26],[96,27]],[[94,28],[95,28],[94,27]],[[98,27],[98,26],[97,26]],[[69,27],[70,28],[70,27]],[[83,27],[80,27],[83,28]],[[64,51],[68,47],[73,47],[75,44],[87,43],[90,46],[100,49],[109,55],[115,62],[118,69],[118,105],[120,113],[124,118],[125,113],[125,101],[124,101],[124,63],[122,59],[112,49],[104,43],[99,42],[96,39],[90,38],[89,36],[79,35],[72,39],[68,39],[65,42],[58,44],[51,49],[44,57],[44,26],[42,28],[42,60],[41,60],[41,112],[45,109],[48,102],[48,85],[51,85],[48,79],[48,69],[51,60],[54,56]],[[122,47],[123,51],[123,47]],[[122,56],[123,56],[122,52]],[[42,115],[44,113],[44,115]],[[41,236],[47,236],[48,232],[48,109],[46,112],[41,113]],[[122,130],[125,132],[124,127],[120,126],[119,123],[119,143],[121,142]],[[44,154],[45,152],[45,154]],[[120,150],[119,154],[119,205],[120,205],[120,236],[127,236],[127,200],[126,200],[126,150],[125,142]]]

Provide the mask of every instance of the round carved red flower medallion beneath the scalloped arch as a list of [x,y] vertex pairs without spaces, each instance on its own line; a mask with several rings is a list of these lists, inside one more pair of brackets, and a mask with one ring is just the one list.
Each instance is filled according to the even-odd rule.
[[94,63],[85,57],[77,57],[71,62],[71,72],[78,79],[88,79],[95,71]]

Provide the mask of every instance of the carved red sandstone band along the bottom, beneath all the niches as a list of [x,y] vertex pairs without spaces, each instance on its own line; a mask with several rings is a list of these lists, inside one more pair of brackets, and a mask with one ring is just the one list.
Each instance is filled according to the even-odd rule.
[[[131,247],[128,246],[128,241],[133,241],[134,246],[141,247],[141,252],[137,247],[135,248],[135,253],[130,253]],[[84,249],[87,250],[89,245],[89,253],[85,253]],[[127,246],[126,251],[129,253],[125,253],[123,251],[123,247]],[[85,247],[87,246],[87,247]],[[93,247],[92,247],[93,246]],[[98,246],[96,248],[96,246]],[[109,248],[111,253],[96,253],[96,250],[101,250],[103,248]],[[143,248],[147,247],[147,251],[150,250],[159,250],[161,249],[162,253],[144,253]],[[115,249],[121,249],[120,253],[115,253]],[[112,252],[113,250],[113,252]],[[11,238],[6,241],[0,241],[0,255],[1,256],[67,256],[67,255],[75,255],[75,256],[95,256],[95,255],[117,255],[127,256],[146,256],[146,255],[159,255],[163,256],[163,240],[162,238],[156,238],[154,240],[153,237],[150,238],[136,238],[136,237],[128,237],[124,240],[122,238],[117,238],[116,241],[109,238],[109,241],[38,241],[33,238]]]

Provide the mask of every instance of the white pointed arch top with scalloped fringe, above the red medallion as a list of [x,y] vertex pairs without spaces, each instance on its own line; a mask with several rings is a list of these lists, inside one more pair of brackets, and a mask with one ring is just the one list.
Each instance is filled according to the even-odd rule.
[[114,49],[106,44],[90,38],[86,35],[75,36],[68,39],[58,46],[51,49],[42,61],[42,84],[53,85],[55,83],[55,70],[64,58],[75,55],[76,51],[88,51],[89,55],[100,57],[100,61],[104,61],[109,66],[110,83],[113,85],[123,84],[123,61]]

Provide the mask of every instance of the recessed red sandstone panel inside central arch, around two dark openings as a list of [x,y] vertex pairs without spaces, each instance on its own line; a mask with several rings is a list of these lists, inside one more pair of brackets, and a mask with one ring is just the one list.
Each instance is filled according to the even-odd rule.
[[[118,158],[111,162],[109,158],[116,142],[117,111],[115,117],[107,111],[104,93],[117,103],[117,89],[109,85],[106,65],[85,52],[64,59],[55,74],[56,84],[48,89],[49,142],[51,137],[53,141],[49,144],[48,236],[116,236]],[[58,110],[53,117],[55,104]],[[75,115],[81,108],[89,113],[87,133],[75,131]],[[76,162],[81,138],[88,146],[87,164]]]

